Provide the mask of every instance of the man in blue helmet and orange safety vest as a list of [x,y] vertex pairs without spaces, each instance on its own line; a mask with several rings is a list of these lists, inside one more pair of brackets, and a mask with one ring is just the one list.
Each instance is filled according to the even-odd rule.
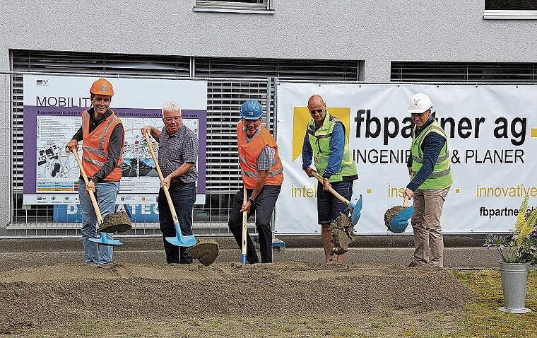
[[[239,247],[242,246],[242,212],[248,216],[256,212],[256,229],[259,234],[261,263],[272,262],[271,217],[283,182],[283,166],[274,137],[261,125],[263,109],[257,100],[247,100],[241,107],[242,119],[237,124],[237,145],[242,182],[248,200],[243,204],[244,192],[233,197],[228,226]],[[246,260],[259,263],[252,238],[247,233]]]

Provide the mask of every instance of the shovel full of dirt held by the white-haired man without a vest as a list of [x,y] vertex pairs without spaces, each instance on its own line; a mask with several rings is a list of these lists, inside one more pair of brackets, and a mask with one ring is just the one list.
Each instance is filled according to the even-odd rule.
[[[143,136],[145,136],[149,151],[151,151],[151,156],[153,157],[153,162],[155,163],[155,169],[157,170],[160,182],[164,182],[164,176],[162,171],[160,171],[160,165],[158,165],[155,151],[153,151],[153,145],[149,138],[149,134],[146,133]],[[168,206],[170,206],[176,233],[175,237],[167,237],[166,240],[179,247],[188,247],[187,252],[192,258],[198,259],[203,265],[211,265],[214,260],[216,260],[216,257],[218,257],[218,243],[216,240],[196,240],[194,235],[183,235],[181,226],[179,225],[179,218],[177,218],[177,213],[175,212],[175,207],[173,206],[172,197],[170,197],[167,185],[163,184],[163,190],[166,195]]]

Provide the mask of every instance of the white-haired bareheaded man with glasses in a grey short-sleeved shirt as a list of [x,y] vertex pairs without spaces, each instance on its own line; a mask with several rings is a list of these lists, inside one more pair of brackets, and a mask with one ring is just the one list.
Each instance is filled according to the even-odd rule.
[[158,142],[158,165],[164,177],[164,182],[160,184],[158,192],[158,219],[160,231],[163,233],[166,262],[191,264],[193,260],[187,252],[187,247],[177,247],[166,240],[166,237],[175,237],[177,233],[172,211],[162,187],[164,185],[168,187],[182,235],[192,235],[199,142],[196,134],[183,124],[181,108],[177,103],[166,103],[162,112],[163,129],[145,126],[141,128],[141,133],[142,135],[151,134]]

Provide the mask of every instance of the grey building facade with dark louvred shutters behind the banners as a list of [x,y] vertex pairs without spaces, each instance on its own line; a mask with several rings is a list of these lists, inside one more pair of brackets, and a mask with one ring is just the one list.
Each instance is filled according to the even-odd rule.
[[207,78],[206,207],[225,218],[243,100],[259,99],[272,127],[276,78],[535,82],[535,2],[2,0],[0,227],[51,212],[20,202],[25,73]]

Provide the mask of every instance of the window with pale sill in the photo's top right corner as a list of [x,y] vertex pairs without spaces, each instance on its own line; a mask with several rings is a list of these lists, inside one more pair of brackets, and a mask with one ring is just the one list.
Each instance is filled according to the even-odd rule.
[[537,19],[537,0],[485,0],[485,19]]

